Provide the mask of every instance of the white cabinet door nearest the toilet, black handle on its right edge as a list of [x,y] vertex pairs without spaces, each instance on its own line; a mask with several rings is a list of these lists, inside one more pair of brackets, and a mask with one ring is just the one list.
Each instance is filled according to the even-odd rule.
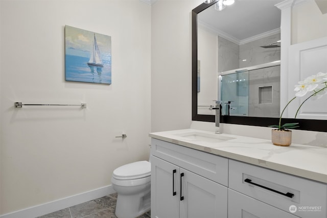
[[178,218],[179,201],[179,167],[151,156],[151,217]]

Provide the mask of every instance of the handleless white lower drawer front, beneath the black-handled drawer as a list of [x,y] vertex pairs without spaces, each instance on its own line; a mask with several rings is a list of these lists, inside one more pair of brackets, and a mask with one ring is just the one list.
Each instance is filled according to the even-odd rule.
[[291,213],[275,208],[228,188],[229,218],[298,218]]

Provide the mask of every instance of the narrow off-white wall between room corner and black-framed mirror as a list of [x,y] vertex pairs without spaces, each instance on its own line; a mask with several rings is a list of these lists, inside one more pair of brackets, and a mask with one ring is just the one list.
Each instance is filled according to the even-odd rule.
[[191,11],[201,2],[159,0],[152,5],[152,132],[185,129],[191,125]]

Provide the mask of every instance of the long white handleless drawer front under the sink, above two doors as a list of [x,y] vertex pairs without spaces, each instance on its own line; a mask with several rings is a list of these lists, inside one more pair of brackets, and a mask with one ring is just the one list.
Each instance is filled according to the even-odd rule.
[[204,178],[228,185],[228,159],[167,141],[151,139],[153,156],[188,169]]

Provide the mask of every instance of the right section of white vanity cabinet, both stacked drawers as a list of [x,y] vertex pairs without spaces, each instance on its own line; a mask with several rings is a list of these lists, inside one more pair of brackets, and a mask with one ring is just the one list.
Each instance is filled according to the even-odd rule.
[[232,218],[327,217],[324,183],[230,159],[228,187]]

